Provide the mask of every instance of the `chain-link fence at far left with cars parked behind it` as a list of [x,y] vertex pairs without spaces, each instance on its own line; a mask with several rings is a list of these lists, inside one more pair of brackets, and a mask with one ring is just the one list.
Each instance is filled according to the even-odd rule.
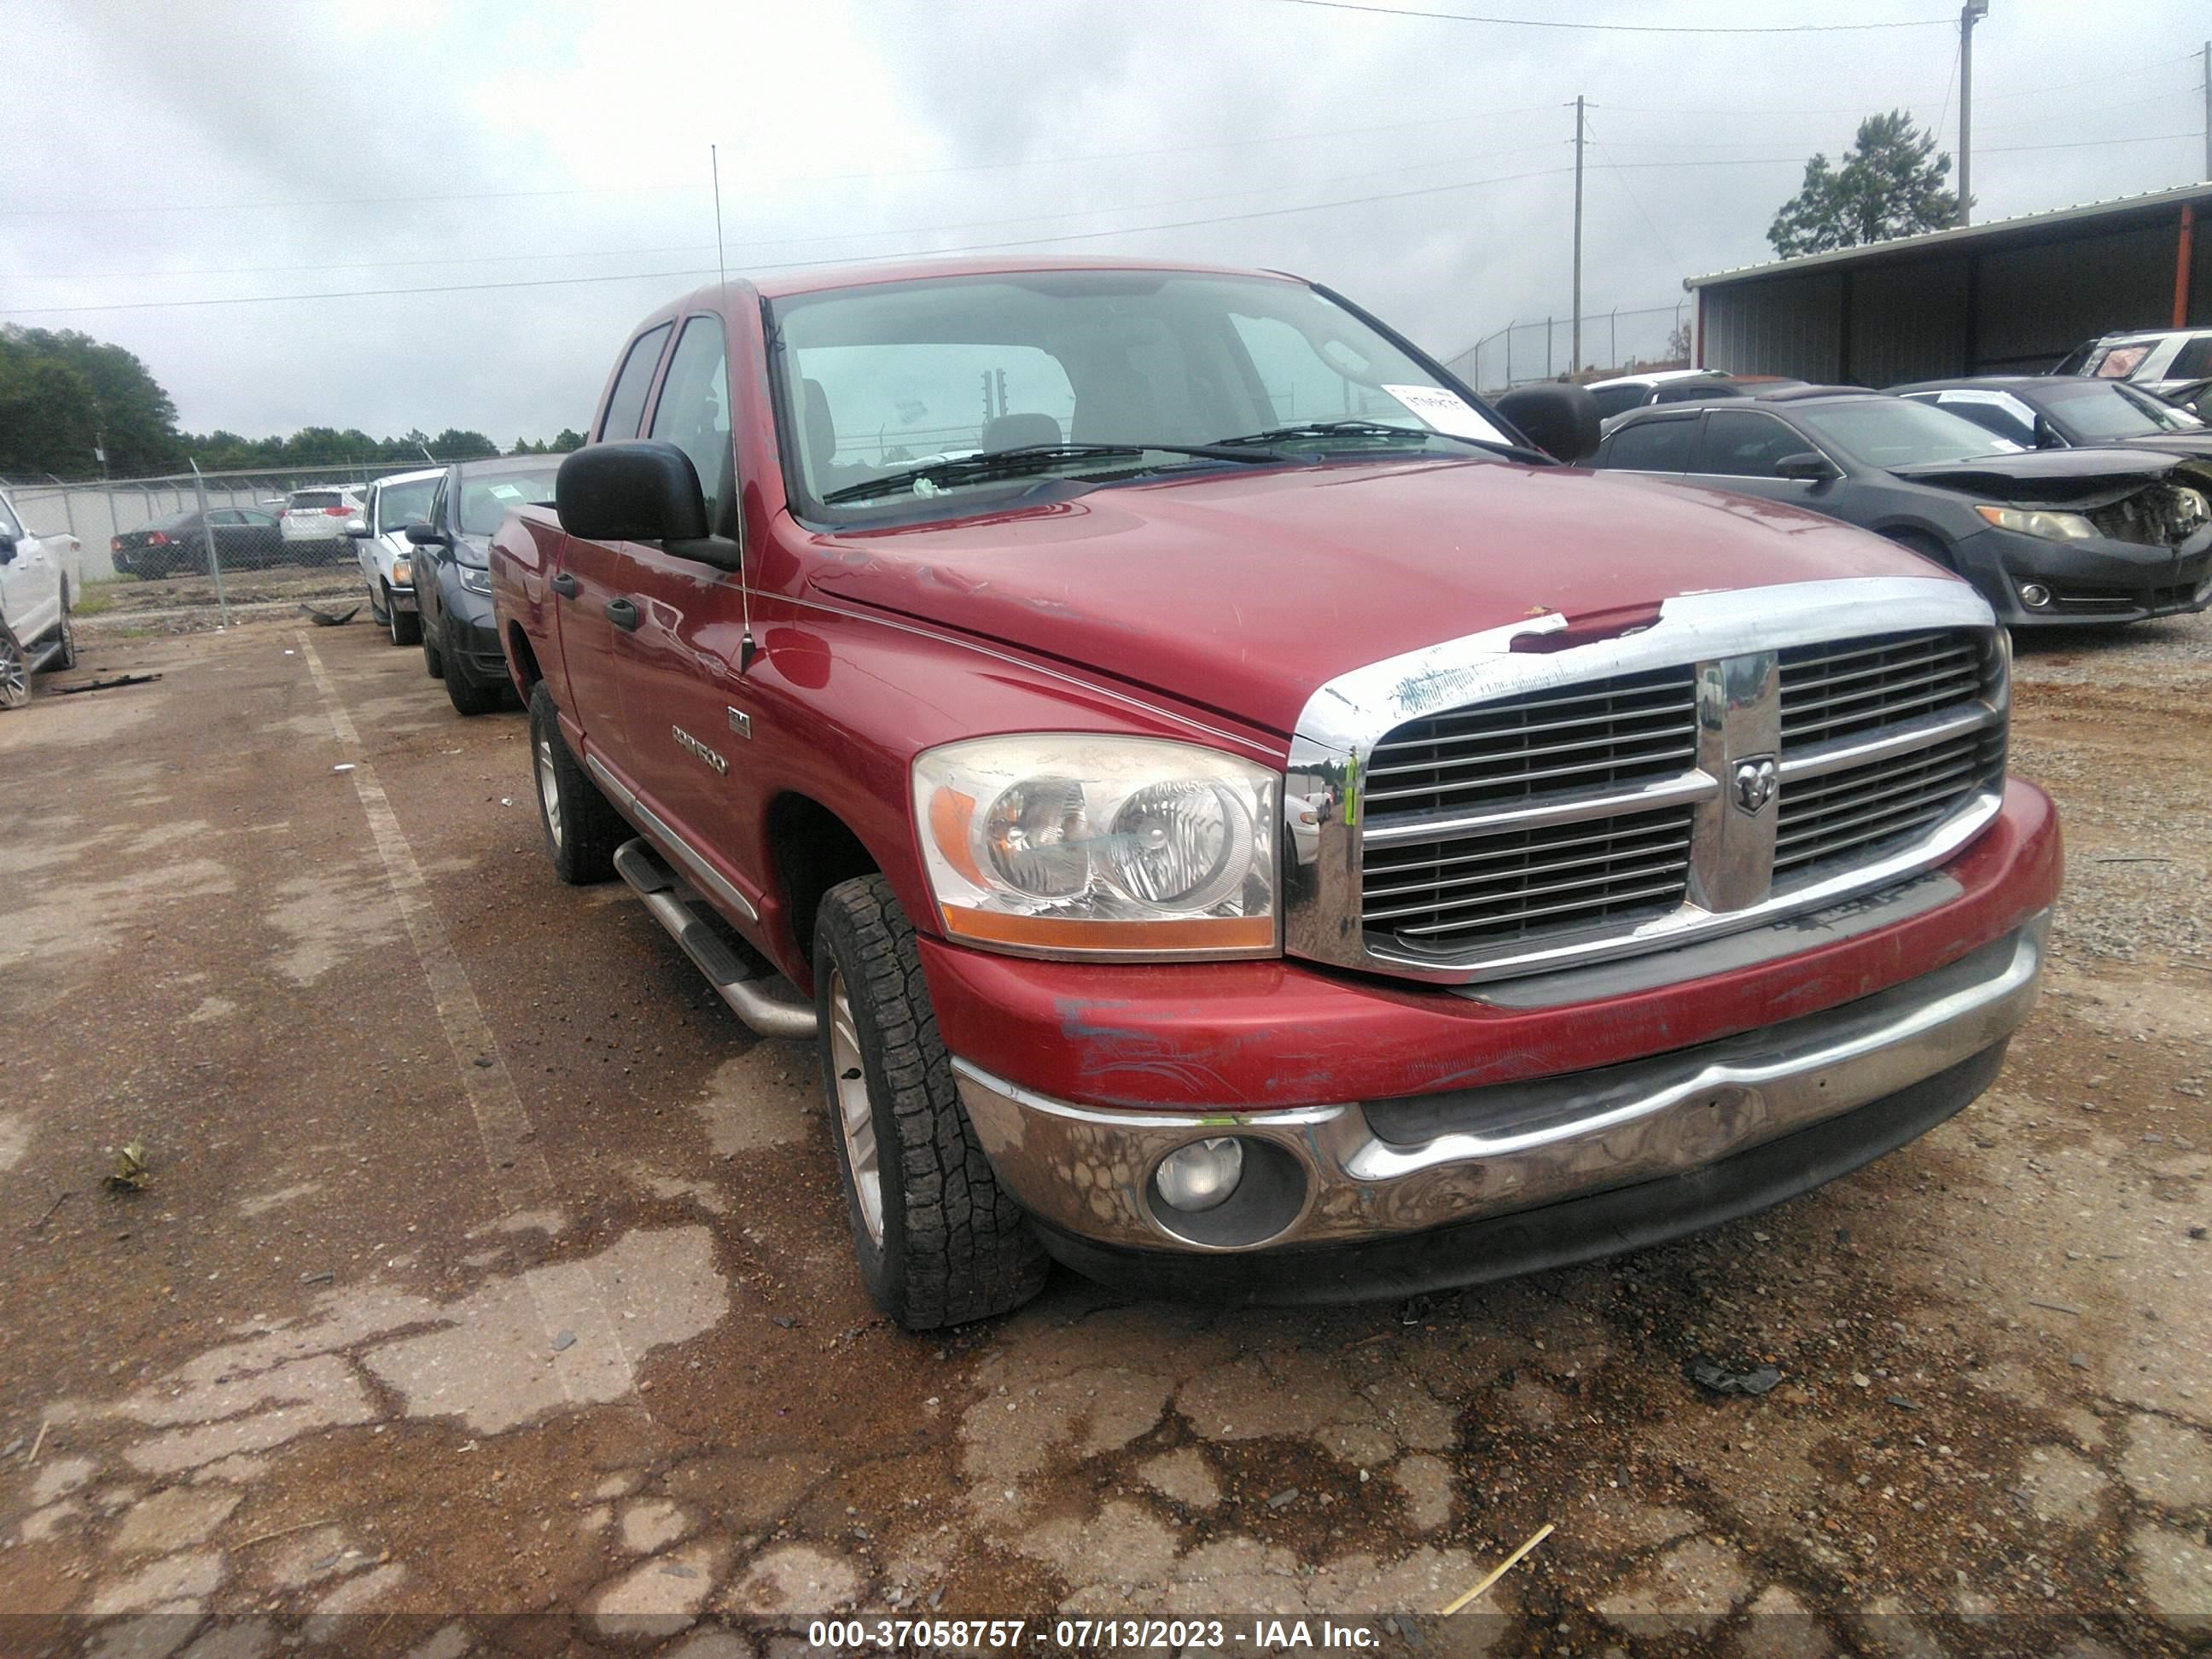
[[352,566],[345,520],[361,509],[369,480],[431,465],[438,462],[93,482],[0,478],[0,487],[33,535],[77,538],[86,582],[159,582],[217,571]]

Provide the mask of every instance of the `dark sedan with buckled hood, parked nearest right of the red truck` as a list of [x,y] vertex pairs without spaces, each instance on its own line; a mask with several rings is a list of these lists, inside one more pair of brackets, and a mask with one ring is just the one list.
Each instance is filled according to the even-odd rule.
[[2212,507],[2150,449],[2024,449],[1927,403],[1798,387],[1637,409],[1597,467],[1763,495],[1958,571],[2013,626],[2212,602]]

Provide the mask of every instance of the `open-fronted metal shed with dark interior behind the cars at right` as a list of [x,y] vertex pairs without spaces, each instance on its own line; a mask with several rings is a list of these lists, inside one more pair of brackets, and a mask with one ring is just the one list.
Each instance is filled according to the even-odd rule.
[[2097,334],[2212,325],[2212,184],[1683,283],[1699,367],[1898,385],[2046,369]]

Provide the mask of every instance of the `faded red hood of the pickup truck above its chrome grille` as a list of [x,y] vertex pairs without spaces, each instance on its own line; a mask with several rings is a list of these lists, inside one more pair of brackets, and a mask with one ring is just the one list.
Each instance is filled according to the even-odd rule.
[[834,602],[1106,670],[1287,734],[1327,679],[1557,611],[1936,566],[1829,518],[1657,478],[1354,462],[1097,489],[956,524],[818,535]]

